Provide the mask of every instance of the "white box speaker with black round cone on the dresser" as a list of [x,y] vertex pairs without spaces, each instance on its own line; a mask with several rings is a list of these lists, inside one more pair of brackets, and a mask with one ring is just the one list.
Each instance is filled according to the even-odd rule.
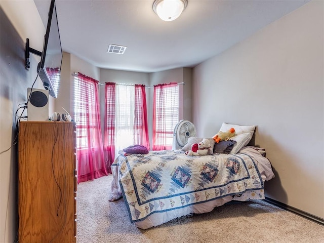
[[49,120],[49,91],[40,89],[27,89],[27,120]]

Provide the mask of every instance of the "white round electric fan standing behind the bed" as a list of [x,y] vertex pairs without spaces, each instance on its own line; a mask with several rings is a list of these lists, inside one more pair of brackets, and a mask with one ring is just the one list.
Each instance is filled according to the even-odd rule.
[[180,120],[174,128],[172,149],[181,149],[187,144],[188,138],[196,136],[196,128],[189,120]]

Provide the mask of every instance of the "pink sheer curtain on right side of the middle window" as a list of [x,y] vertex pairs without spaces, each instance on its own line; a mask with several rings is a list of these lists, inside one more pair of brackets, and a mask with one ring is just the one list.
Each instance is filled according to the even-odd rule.
[[147,125],[146,93],[144,85],[135,85],[135,117],[133,143],[150,149]]

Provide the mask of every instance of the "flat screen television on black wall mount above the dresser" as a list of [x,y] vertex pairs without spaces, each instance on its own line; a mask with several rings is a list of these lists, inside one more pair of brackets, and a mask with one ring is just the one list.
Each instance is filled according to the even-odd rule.
[[29,39],[26,41],[26,69],[29,68],[29,52],[41,56],[41,62],[37,65],[37,73],[42,79],[44,88],[49,94],[57,98],[60,87],[62,47],[57,21],[55,0],[51,0],[49,18],[44,36],[43,52],[29,47]]

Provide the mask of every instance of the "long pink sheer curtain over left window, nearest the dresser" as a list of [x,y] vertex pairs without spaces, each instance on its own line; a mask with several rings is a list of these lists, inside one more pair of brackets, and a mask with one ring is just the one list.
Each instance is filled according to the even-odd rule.
[[108,172],[104,163],[102,146],[99,82],[82,73],[77,73],[75,82],[74,118],[77,140],[77,181],[79,183],[108,175]]

